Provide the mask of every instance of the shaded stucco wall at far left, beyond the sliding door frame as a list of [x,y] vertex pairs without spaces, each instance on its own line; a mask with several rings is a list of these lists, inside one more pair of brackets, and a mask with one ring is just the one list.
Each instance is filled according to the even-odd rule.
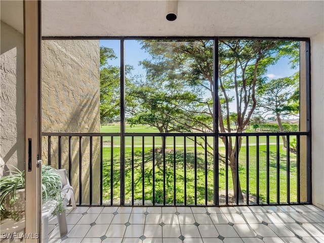
[[14,165],[24,170],[24,40],[1,21],[0,176]]

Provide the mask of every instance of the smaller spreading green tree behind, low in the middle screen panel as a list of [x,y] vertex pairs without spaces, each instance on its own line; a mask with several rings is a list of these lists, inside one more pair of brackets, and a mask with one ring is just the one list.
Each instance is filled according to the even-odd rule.
[[[142,65],[149,70],[149,61],[142,62]],[[154,67],[155,68],[155,67]],[[154,69],[156,70],[156,69]],[[160,133],[190,132],[186,113],[196,95],[185,89],[184,83],[176,79],[163,76],[163,74],[148,74],[146,80],[142,77],[132,79],[126,90],[126,112],[127,122],[132,125],[142,124],[156,128]],[[183,109],[186,107],[186,110]],[[203,119],[203,111],[196,112]],[[191,115],[193,117],[193,115]],[[210,115],[205,115],[211,119]],[[193,127],[192,125],[191,127]],[[163,140],[161,152],[166,147],[166,140]]]

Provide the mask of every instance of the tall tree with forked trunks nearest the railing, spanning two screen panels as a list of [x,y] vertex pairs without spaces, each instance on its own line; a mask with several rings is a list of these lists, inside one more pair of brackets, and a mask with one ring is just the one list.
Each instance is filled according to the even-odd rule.
[[[215,129],[218,129],[220,133],[231,132],[230,123],[234,118],[233,115],[231,116],[233,111],[230,109],[230,104],[233,102],[236,105],[234,111],[236,132],[244,131],[256,109],[256,93],[265,83],[266,79],[263,76],[267,67],[279,59],[281,55],[279,50],[283,46],[287,46],[287,42],[262,39],[219,41],[217,67],[219,99],[218,114],[215,114],[218,116],[219,126]],[[160,97],[163,97],[160,102],[175,111],[166,112],[168,125],[172,124],[173,129],[177,131],[212,132],[213,103],[216,100],[213,79],[213,42],[210,40],[143,41],[142,48],[151,56],[150,60],[144,60],[141,63],[146,69],[147,85],[155,87],[155,92],[158,90],[157,93],[164,93],[160,94]],[[142,88],[142,90],[145,89]],[[178,96],[170,95],[173,94],[171,90]],[[185,92],[187,92],[187,98],[184,98]],[[151,104],[154,102],[151,101]],[[143,114],[146,110],[150,114],[156,114],[154,107],[154,105],[148,105],[146,109],[140,107],[134,113]],[[158,125],[156,120],[151,121],[156,126]],[[141,122],[148,124],[145,120]],[[232,172],[234,195],[242,200],[239,177],[236,177],[238,173],[236,156],[240,151],[241,137],[237,138],[238,147],[232,137],[220,138],[225,145],[228,145],[227,155]],[[204,142],[200,145],[204,146]],[[210,144],[208,146],[211,147]],[[220,154],[219,159],[225,161],[225,155]],[[236,178],[238,178],[238,183],[236,183]]]

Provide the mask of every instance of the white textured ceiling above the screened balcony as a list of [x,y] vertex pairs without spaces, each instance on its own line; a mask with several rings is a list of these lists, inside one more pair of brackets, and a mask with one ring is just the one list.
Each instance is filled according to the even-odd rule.
[[324,29],[324,1],[43,1],[43,36],[290,36]]

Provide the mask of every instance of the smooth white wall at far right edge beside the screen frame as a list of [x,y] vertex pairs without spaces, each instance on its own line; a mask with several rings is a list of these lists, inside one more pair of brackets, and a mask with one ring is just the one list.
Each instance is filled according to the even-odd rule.
[[312,202],[324,210],[324,31],[311,37]]

